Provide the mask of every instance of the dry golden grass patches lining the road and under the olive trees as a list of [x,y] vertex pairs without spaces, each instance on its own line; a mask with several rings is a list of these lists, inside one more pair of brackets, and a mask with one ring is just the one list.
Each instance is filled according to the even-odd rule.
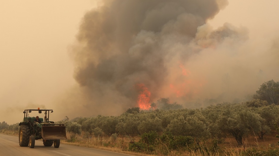
[[[1,133],[18,136],[18,132],[2,130]],[[243,143],[246,149],[256,148],[256,149],[273,149],[278,148],[278,139],[275,137],[276,132],[273,132],[269,135],[265,135],[263,140],[258,139],[255,136],[247,136],[243,139]],[[119,152],[124,154],[139,155],[139,156],[148,156],[144,153],[135,153],[129,152],[129,142],[131,138],[129,137],[117,137],[117,139],[108,136],[88,136],[86,134],[73,134],[67,133],[67,140],[61,140],[62,144],[75,145],[81,147],[89,147],[95,149],[109,150],[112,152]],[[140,138],[133,138],[134,141],[138,141]],[[208,152],[207,149],[212,147],[212,144],[209,142],[203,142],[199,145],[201,148],[199,150],[184,150],[184,151],[175,151],[168,150],[167,156],[204,156],[205,153],[208,156],[241,156],[242,152],[245,150],[243,147],[239,147],[237,142],[233,137],[227,137],[223,140],[221,144],[218,144],[217,152]],[[162,148],[163,147],[162,145]],[[163,156],[161,149],[158,148],[154,151],[155,154]]]

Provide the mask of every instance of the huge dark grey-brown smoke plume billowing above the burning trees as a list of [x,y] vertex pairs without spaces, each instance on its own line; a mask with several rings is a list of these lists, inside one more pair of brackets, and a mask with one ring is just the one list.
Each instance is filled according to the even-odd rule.
[[149,89],[150,103],[169,97],[193,108],[249,99],[267,79],[250,51],[248,30],[206,24],[226,5],[111,0],[87,12],[71,49],[79,87],[65,98],[68,109],[119,115],[137,107],[137,84]]

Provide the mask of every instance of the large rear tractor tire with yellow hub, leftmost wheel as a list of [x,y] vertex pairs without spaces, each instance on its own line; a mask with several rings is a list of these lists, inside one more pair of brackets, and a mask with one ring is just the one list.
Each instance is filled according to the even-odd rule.
[[29,137],[30,137],[30,128],[28,125],[20,125],[19,134],[18,134],[18,141],[19,145],[23,147],[27,147],[29,144]]

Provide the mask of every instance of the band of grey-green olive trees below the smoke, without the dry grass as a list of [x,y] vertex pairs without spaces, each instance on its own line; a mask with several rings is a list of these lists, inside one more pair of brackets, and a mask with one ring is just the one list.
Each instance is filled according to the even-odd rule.
[[[243,145],[244,135],[264,135],[275,130],[279,123],[279,82],[264,82],[254,99],[244,103],[222,103],[200,109],[183,109],[170,104],[169,98],[153,103],[149,111],[138,107],[128,109],[119,116],[78,117],[62,120],[71,132],[89,135],[143,135],[151,131],[170,132],[174,136],[198,139],[222,138],[231,134],[238,145]],[[156,109],[160,107],[161,109]]]

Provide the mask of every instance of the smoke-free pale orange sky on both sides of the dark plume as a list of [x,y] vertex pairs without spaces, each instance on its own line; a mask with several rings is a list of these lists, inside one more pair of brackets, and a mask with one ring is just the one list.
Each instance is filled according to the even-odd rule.
[[[56,100],[77,85],[68,49],[82,17],[96,5],[94,0],[0,2],[0,122],[20,122],[24,109],[55,109]],[[246,27],[249,44],[263,44],[256,47],[264,51],[279,38],[278,6],[278,0],[229,0],[208,23],[214,29],[225,22]],[[54,110],[53,120],[66,115],[74,117]]]

